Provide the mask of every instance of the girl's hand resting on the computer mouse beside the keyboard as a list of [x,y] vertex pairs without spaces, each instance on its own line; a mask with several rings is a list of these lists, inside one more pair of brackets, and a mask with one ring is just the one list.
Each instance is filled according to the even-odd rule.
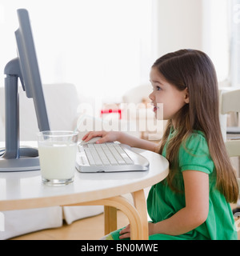
[[102,137],[99,138],[98,141],[96,142],[97,144],[100,143],[105,143],[105,142],[115,142],[118,141],[118,138],[120,137],[120,132],[118,131],[90,131],[89,133],[85,134],[82,137],[82,140],[84,142],[88,142],[91,138],[94,137]]

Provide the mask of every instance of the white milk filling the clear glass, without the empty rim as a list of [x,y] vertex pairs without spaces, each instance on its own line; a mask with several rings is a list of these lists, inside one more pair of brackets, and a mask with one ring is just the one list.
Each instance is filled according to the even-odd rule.
[[38,153],[42,177],[52,179],[69,179],[74,176],[77,144],[38,144]]

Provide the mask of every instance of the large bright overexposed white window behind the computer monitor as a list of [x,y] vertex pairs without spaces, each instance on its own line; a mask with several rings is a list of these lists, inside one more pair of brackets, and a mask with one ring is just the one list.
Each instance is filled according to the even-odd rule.
[[152,1],[1,2],[0,70],[16,57],[16,10],[26,8],[43,83],[72,82],[86,97],[118,98],[148,81],[153,62]]

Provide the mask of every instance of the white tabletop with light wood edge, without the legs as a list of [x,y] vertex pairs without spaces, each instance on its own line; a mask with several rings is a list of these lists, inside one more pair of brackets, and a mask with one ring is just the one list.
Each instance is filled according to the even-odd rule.
[[162,181],[169,163],[161,155],[133,148],[150,161],[150,169],[136,172],[79,173],[66,186],[42,184],[40,170],[0,173],[0,210],[63,206],[96,201],[142,190]]

